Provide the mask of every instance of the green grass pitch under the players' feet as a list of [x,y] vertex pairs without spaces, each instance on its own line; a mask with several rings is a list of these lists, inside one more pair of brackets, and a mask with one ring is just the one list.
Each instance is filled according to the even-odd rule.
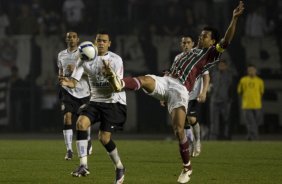
[[[181,171],[176,141],[116,140],[127,172],[124,184],[173,184]],[[75,147],[75,146],[74,146]],[[90,175],[70,175],[79,163],[64,160],[63,140],[0,140],[0,183],[111,184],[114,167],[101,144],[94,140],[88,158]],[[202,143],[192,158],[193,184],[281,184],[282,142]]]

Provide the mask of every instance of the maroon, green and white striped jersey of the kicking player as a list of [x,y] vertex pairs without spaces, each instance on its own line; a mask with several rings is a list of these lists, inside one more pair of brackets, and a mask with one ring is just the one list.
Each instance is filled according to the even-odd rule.
[[219,61],[220,55],[221,52],[216,46],[204,49],[194,48],[173,62],[170,74],[178,78],[187,90],[191,91],[196,79],[214,66]]

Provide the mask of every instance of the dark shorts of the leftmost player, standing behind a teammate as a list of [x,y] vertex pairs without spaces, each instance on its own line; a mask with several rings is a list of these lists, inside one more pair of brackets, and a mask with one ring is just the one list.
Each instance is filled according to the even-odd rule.
[[76,98],[61,87],[59,91],[59,99],[61,101],[61,111],[63,114],[71,112],[72,114],[78,115],[79,108],[83,104],[88,103],[90,97]]

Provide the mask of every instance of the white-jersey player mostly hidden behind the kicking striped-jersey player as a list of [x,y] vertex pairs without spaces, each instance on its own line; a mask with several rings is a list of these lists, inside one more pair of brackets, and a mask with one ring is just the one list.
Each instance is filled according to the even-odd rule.
[[[183,36],[180,42],[182,52],[178,54],[174,60],[177,60],[183,54],[190,52],[193,46],[194,41],[192,36]],[[206,71],[197,78],[193,86],[193,90],[189,93],[187,122],[185,124],[184,131],[189,140],[189,153],[194,157],[198,156],[201,152],[200,125],[197,120],[198,102],[203,103],[206,101],[209,81],[209,72]]]

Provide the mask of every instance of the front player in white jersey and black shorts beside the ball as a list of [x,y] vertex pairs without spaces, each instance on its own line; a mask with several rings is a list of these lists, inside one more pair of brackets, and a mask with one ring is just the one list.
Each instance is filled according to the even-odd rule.
[[99,140],[105,147],[108,155],[115,165],[116,184],[123,183],[125,168],[121,162],[116,144],[112,140],[112,132],[122,130],[126,121],[126,95],[125,92],[115,93],[103,75],[104,61],[111,64],[119,78],[123,78],[123,61],[117,54],[108,51],[111,41],[107,31],[99,31],[95,45],[98,48],[98,57],[91,61],[81,61],[73,74],[72,79],[62,78],[63,86],[74,87],[81,80],[83,72],[89,78],[91,88],[90,102],[82,109],[77,121],[77,151],[80,157],[80,165],[72,172],[73,176],[87,176],[90,172],[87,164],[87,128],[91,124],[100,122]]

